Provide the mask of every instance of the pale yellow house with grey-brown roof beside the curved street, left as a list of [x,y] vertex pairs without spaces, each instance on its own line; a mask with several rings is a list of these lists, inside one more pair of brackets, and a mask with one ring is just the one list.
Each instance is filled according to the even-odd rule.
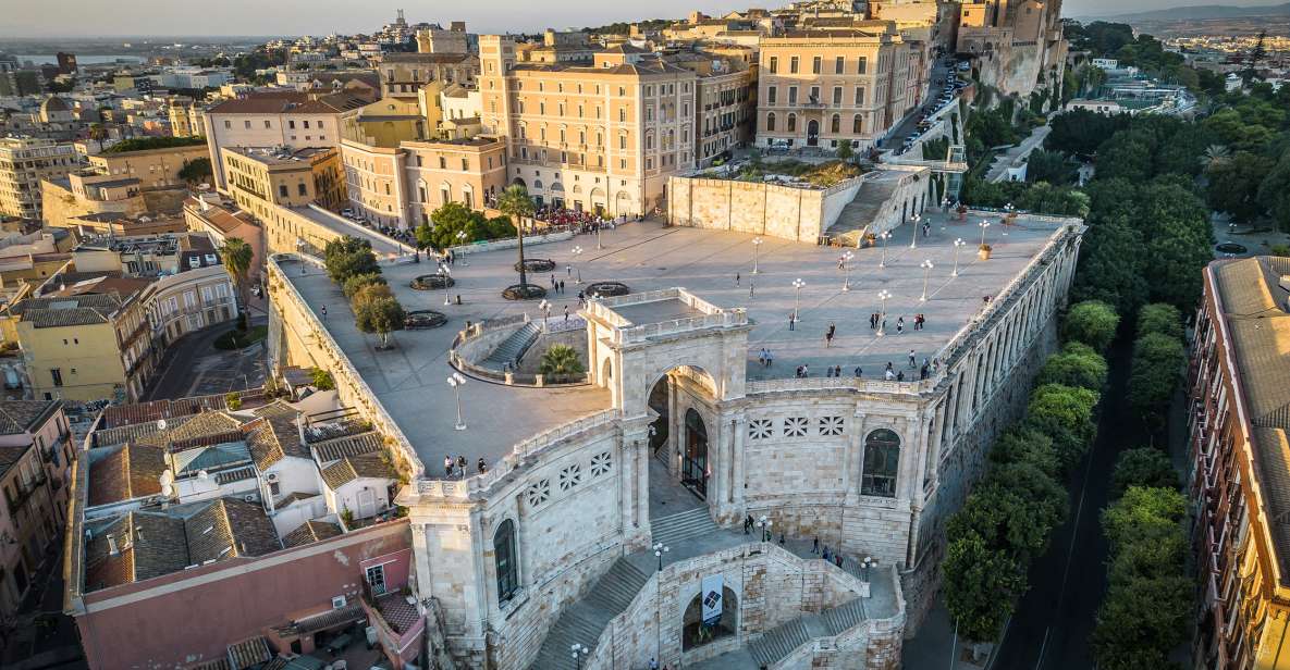
[[14,305],[35,397],[137,401],[155,362],[152,329],[139,299],[147,285],[101,278]]

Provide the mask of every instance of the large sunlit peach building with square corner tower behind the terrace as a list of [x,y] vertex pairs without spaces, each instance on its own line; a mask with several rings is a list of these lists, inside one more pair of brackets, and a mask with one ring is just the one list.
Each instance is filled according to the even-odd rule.
[[508,183],[544,205],[636,215],[694,165],[698,76],[632,46],[591,61],[524,63],[480,37],[481,126],[507,146]]

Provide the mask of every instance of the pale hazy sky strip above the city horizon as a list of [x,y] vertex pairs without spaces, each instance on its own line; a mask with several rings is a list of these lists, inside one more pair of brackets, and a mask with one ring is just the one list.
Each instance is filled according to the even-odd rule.
[[[778,6],[757,0],[0,0],[0,36],[120,35],[326,35],[368,32],[406,9],[408,21],[466,21],[472,32],[537,31],[636,18],[682,17],[691,9],[721,13]],[[1242,0],[1066,0],[1064,15],[1118,14],[1200,4],[1265,4]]]

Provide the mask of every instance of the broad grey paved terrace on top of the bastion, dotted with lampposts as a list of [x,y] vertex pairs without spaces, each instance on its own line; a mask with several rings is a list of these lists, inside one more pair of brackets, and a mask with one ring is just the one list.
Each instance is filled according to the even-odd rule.
[[[848,291],[842,290],[844,272],[838,269],[840,249],[766,237],[759,251],[759,273],[752,274],[752,235],[667,228],[651,222],[605,232],[602,250],[596,249],[593,237],[582,237],[526,246],[526,255],[555,260],[556,274],[566,282],[568,294],[547,296],[555,320],[562,318],[565,307],[570,313],[578,309],[579,273],[584,281],[622,281],[635,292],[686,287],[717,308],[747,308],[753,323],[746,358],[749,380],[793,378],[800,365],[809,366],[810,376],[815,378],[823,376],[826,366],[838,365],[846,376],[862,367],[864,378],[875,379],[886,362],[916,379],[917,370],[904,367],[909,350],[920,361],[938,356],[982,312],[983,298],[1000,294],[1063,229],[1055,220],[1022,215],[1017,225],[1005,231],[993,215],[995,225],[987,232],[993,255],[982,262],[975,254],[980,215],[958,222],[929,210],[928,218],[931,232],[918,240],[917,249],[909,247],[912,225],[895,231],[885,268],[878,267],[881,247],[850,250],[855,258],[850,263]],[[952,277],[957,237],[970,244],[960,254],[958,276]],[[574,258],[570,254],[574,246],[586,253]],[[477,457],[493,464],[517,442],[610,406],[609,392],[590,385],[521,388],[471,380],[461,389],[468,428],[454,430],[457,405],[445,378],[452,372],[448,354],[458,331],[466,321],[525,312],[539,317],[537,302],[513,303],[501,296],[501,290],[516,281],[513,250],[462,258],[468,264],[455,264],[457,285],[449,291],[454,298],[462,296],[461,307],[444,305],[444,291],[409,287],[415,276],[432,272],[433,267],[426,263],[384,267],[391,289],[406,309],[436,309],[449,317],[444,327],[393,334],[391,339],[397,348],[390,352],[375,350],[374,336],[359,332],[348,302],[322,269],[290,258],[279,260],[307,304],[315,309],[328,305],[324,326],[418,451],[430,477],[441,472],[439,464],[445,455],[464,455],[472,465]],[[934,269],[928,300],[920,302],[924,287],[920,263],[925,259],[934,263]],[[570,265],[573,273],[566,269]],[[800,295],[800,322],[789,329],[796,278],[805,281],[805,287]],[[530,276],[530,281],[543,285],[550,285],[550,280],[547,274]],[[868,327],[868,316],[881,309],[880,290],[891,292],[885,336]],[[686,309],[677,300],[615,308],[622,317],[641,323],[676,318]],[[913,330],[917,313],[926,314],[922,330]],[[898,320],[904,322],[900,332]],[[829,323],[836,323],[837,334],[832,345],[826,347],[824,331]],[[757,361],[762,348],[774,354],[774,366],[765,367]]]

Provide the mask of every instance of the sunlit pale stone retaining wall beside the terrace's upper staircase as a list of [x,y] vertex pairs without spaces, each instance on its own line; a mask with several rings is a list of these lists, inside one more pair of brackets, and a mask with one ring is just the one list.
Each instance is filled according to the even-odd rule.
[[733,179],[668,179],[668,223],[815,244],[855,197],[862,177],[827,189]]

